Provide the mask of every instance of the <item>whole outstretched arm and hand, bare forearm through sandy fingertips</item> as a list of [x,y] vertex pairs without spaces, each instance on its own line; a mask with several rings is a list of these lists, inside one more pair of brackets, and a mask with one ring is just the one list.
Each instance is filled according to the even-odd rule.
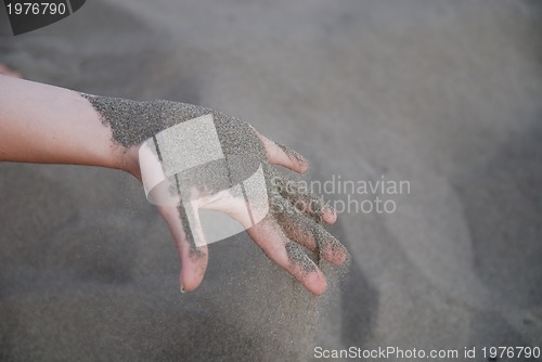
[[[199,210],[211,209],[237,220],[271,260],[310,292],[322,294],[325,277],[302,246],[335,264],[344,263],[348,254],[322,228],[322,221],[335,222],[334,211],[274,169],[273,165],[280,165],[305,172],[308,165],[297,153],[248,124],[209,108],[80,94],[0,75],[0,161],[109,167],[144,180],[141,145],[195,119],[211,119],[221,156],[203,167],[179,168],[178,161],[196,159],[207,150],[210,133],[196,131],[196,139],[190,130],[176,133],[184,134],[185,142],[169,142],[169,148],[184,156],[169,153],[167,168],[175,172],[168,173],[167,181],[175,185],[170,188],[173,194],[182,197],[176,205],[158,206],[179,250],[181,289],[193,290],[205,274],[210,241],[201,227]],[[168,142],[164,145],[167,148]],[[260,186],[247,183],[254,174],[261,176]]]

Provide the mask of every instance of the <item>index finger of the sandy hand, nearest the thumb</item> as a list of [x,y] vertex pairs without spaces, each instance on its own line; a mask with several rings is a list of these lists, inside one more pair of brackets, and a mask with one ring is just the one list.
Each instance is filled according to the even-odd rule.
[[318,266],[302,248],[289,241],[272,218],[266,218],[247,230],[248,235],[272,261],[288,271],[309,292],[321,295],[327,283]]

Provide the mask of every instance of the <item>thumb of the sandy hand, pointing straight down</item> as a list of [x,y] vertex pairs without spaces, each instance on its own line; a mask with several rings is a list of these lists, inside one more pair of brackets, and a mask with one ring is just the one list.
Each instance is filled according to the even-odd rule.
[[[181,292],[194,290],[205,275],[208,261],[207,246],[197,247],[183,207],[157,206],[169,225],[181,260],[179,283]],[[199,232],[198,230],[194,232]],[[202,231],[203,232],[203,231]]]

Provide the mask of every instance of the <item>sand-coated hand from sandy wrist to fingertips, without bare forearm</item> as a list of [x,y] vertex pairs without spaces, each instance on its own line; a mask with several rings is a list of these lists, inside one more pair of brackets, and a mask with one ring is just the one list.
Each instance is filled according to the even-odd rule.
[[[325,276],[302,247],[317,253],[318,258],[343,264],[348,258],[346,248],[321,224],[322,221],[334,223],[336,215],[325,207],[321,198],[306,193],[295,181],[288,180],[272,166],[280,165],[304,173],[308,169],[305,158],[261,135],[248,124],[208,108],[166,101],[132,102],[83,96],[109,122],[117,143],[127,146],[128,155],[132,158],[130,165],[139,165],[139,148],[145,140],[154,137],[154,142],[157,142],[156,139],[164,134],[160,131],[194,118],[211,116],[223,158],[207,167],[191,168],[185,172],[176,170],[176,179],[170,180],[171,184],[167,190],[177,188],[180,195],[178,203],[157,206],[177,244],[181,260],[182,292],[195,289],[204,277],[208,261],[208,241],[205,240],[198,211],[211,209],[225,212],[243,224],[263,253],[286,269],[308,290],[315,295],[324,293]],[[179,134],[190,140],[192,135],[185,133],[188,129]],[[198,142],[208,142],[205,134],[194,138],[203,138]],[[183,154],[189,159],[197,157],[197,151],[184,146],[183,142],[177,142],[171,147],[175,148],[171,153],[173,156]],[[166,148],[167,145],[163,146],[163,153]],[[164,154],[162,156],[167,158]],[[165,158],[163,161],[167,163]],[[176,161],[172,159],[173,164]],[[269,212],[262,212],[262,218],[255,222],[253,217],[246,217],[246,198],[232,192],[232,186],[255,174],[258,169],[262,171],[264,195],[257,198],[264,199],[264,211]],[[140,180],[145,178],[144,169],[136,168],[130,172]],[[256,215],[257,210],[254,210],[254,205],[251,207]]]

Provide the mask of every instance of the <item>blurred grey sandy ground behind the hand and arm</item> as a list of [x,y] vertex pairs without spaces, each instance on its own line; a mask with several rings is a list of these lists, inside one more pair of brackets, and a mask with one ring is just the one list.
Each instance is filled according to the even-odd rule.
[[216,107],[310,158],[312,180],[411,184],[383,195],[393,214],[340,215],[352,263],[324,298],[244,235],[181,295],[134,180],[0,165],[1,361],[542,347],[539,2],[96,0],[16,38],[0,18],[0,62],[29,79]]

